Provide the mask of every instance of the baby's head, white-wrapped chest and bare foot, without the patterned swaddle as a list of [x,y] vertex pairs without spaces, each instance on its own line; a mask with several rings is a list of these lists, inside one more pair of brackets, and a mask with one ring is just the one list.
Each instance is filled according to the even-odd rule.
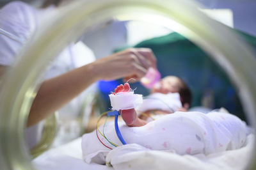
[[[128,83],[117,86],[115,94],[124,93],[125,91],[131,91]],[[191,92],[186,84],[179,77],[167,76],[154,85],[151,94],[144,98],[143,104],[137,110],[139,114],[143,112],[148,116],[150,112],[170,114],[175,111],[187,111],[190,103]],[[148,116],[141,115],[138,117],[134,108],[122,109],[120,114],[129,127],[140,127],[147,123],[145,120]]]

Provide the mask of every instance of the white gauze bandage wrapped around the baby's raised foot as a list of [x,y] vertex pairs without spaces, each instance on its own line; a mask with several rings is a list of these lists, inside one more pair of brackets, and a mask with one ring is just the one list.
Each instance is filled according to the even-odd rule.
[[134,94],[133,91],[119,92],[109,95],[112,110],[136,109],[142,104],[142,95]]

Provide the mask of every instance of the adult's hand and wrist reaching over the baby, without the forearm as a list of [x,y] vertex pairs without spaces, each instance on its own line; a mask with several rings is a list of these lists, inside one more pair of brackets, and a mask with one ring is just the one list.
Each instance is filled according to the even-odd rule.
[[140,80],[150,66],[156,68],[156,57],[151,49],[138,48],[117,52],[93,63],[99,79],[113,80],[134,78]]

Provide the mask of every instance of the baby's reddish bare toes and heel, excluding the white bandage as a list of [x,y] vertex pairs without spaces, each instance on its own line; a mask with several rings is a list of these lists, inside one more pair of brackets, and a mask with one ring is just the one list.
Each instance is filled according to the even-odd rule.
[[[125,93],[130,91],[130,85],[126,82],[124,85],[120,84],[115,88],[115,94]],[[113,94],[113,93],[112,93]],[[121,109],[120,114],[125,121],[126,125],[129,127],[141,127],[146,125],[147,122],[138,118],[138,115],[134,108],[132,109]]]

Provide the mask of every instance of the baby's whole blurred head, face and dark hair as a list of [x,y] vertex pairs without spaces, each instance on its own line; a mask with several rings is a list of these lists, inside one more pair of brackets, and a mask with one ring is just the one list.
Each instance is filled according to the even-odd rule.
[[188,86],[176,76],[166,76],[151,90],[151,93],[179,93],[182,105],[191,103],[191,91]]

